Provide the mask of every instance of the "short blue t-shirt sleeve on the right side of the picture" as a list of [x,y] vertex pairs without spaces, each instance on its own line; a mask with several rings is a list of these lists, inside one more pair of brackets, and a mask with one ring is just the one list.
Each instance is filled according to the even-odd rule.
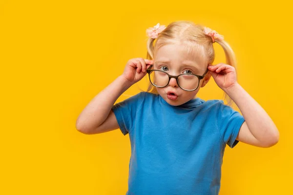
[[236,138],[245,121],[244,117],[222,101],[218,107],[217,117],[218,129],[222,140],[230,148],[233,148],[239,142]]

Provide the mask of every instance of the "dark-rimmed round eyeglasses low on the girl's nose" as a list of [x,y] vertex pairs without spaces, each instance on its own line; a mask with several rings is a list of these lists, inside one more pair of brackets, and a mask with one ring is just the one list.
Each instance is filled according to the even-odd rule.
[[200,80],[203,79],[209,71],[207,69],[202,76],[194,74],[181,74],[178,76],[172,76],[162,70],[151,70],[152,67],[153,65],[150,65],[146,72],[153,86],[160,88],[166,87],[169,84],[171,78],[175,78],[178,86],[185,91],[196,90],[199,86]]

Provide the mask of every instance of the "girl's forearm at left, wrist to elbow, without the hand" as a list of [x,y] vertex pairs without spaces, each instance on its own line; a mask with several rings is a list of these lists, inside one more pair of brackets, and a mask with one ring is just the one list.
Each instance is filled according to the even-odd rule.
[[84,108],[76,121],[77,129],[94,129],[100,126],[110,113],[115,101],[131,86],[120,76],[96,95]]

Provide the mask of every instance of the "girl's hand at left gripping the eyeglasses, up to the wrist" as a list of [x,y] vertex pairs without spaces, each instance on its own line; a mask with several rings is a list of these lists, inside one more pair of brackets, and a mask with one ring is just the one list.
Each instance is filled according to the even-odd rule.
[[123,72],[123,76],[129,80],[131,84],[141,80],[146,75],[146,69],[153,64],[153,60],[136,58],[129,59]]

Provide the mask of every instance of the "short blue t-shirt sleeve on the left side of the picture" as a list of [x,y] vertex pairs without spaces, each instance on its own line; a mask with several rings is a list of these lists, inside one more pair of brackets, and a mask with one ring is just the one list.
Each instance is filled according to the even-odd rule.
[[137,110],[140,107],[143,93],[139,93],[135,96],[125,99],[119,103],[116,103],[112,107],[112,111],[115,114],[119,128],[123,135],[126,135],[133,128],[133,123]]

